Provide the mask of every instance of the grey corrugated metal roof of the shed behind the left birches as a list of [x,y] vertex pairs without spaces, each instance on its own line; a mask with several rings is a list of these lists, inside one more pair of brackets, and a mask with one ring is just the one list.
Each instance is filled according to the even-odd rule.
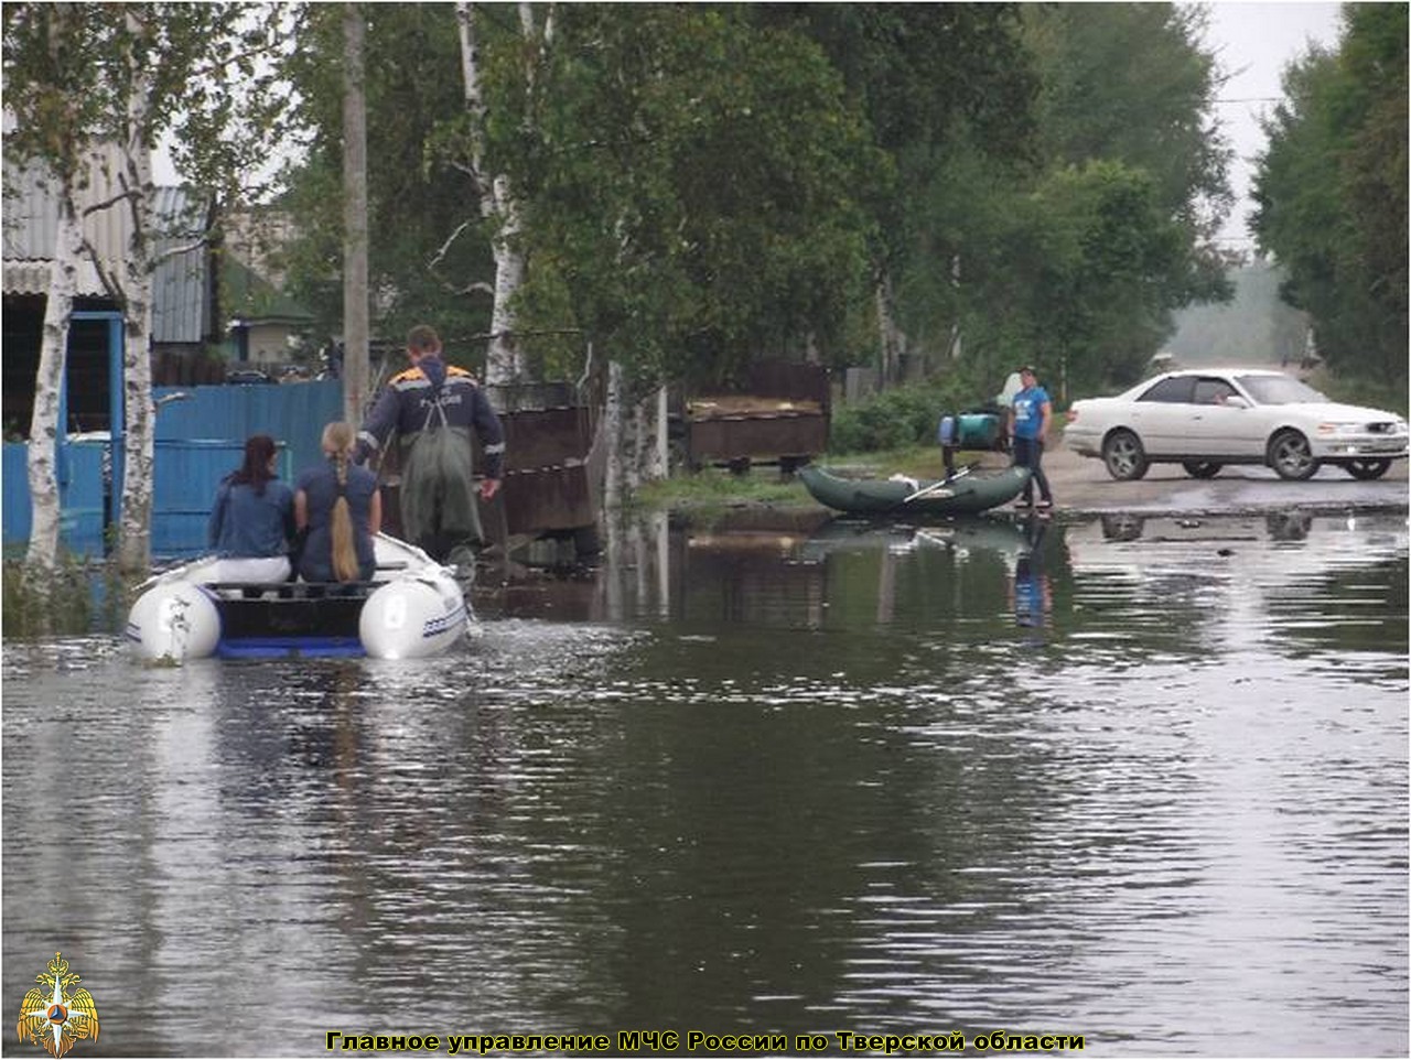
[[[78,206],[109,202],[116,193],[117,149],[96,151],[89,164],[89,185],[79,192]],[[4,166],[4,293],[45,295],[49,289],[49,261],[58,240],[58,206],[54,178],[42,165]],[[205,231],[206,199],[185,187],[158,187],[154,202],[157,252],[183,247]],[[116,268],[123,258],[131,226],[126,210],[99,210],[83,220],[83,233],[104,262]],[[210,255],[190,249],[161,261],[152,276],[152,341],[200,343],[210,331]],[[97,269],[90,261],[79,266],[79,295],[103,297]]]

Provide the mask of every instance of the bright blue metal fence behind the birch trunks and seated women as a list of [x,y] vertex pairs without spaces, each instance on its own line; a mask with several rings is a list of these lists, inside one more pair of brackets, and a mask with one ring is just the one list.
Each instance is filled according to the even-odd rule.
[[[343,414],[339,382],[284,386],[157,388],[152,471],[152,553],[190,555],[206,547],[206,517],[220,479],[240,467],[246,438],[270,434],[279,443],[279,475],[292,482],[322,460],[323,426]],[[106,441],[59,447],[61,533],[76,554],[103,554]],[[3,467],[4,544],[30,538],[28,447],[6,443]],[[116,517],[116,506],[113,506]]]

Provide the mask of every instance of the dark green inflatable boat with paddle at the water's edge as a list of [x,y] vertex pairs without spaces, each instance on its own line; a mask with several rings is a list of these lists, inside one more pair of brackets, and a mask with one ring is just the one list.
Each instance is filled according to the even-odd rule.
[[907,478],[841,478],[806,467],[799,478],[820,505],[855,516],[920,519],[985,512],[1019,496],[1029,468],[959,472],[934,482]]

